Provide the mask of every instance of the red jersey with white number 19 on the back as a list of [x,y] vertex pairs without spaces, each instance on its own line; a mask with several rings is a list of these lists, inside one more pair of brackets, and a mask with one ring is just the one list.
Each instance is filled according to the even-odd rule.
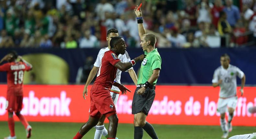
[[0,66],[0,71],[7,72],[8,90],[11,87],[22,88],[24,71],[29,71],[31,67],[24,62],[9,62]]

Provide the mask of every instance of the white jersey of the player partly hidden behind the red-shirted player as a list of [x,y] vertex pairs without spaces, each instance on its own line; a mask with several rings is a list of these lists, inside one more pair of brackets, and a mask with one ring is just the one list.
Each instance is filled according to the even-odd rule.
[[[95,63],[94,63],[94,66],[95,66],[95,67],[99,67],[99,66],[100,66],[101,59],[103,58],[104,53],[105,53],[106,51],[109,51],[109,50],[110,50],[110,49],[109,49],[108,47],[105,47],[105,48],[102,48],[102,49],[99,50],[99,54],[98,54],[97,59],[96,59],[96,61],[95,61]],[[127,51],[125,51],[125,54],[123,54],[123,55],[122,55],[122,54],[119,54],[119,55],[118,55],[118,59],[120,59],[122,62],[129,62],[129,61],[131,61],[131,59],[130,59],[130,57],[129,57]],[[130,69],[133,69],[133,67],[130,68]],[[130,70],[130,69],[129,69],[129,70]],[[128,71],[128,70],[126,70],[125,72],[127,72],[127,71]],[[122,73],[122,71],[119,70],[119,69],[117,69],[115,81],[118,82],[118,83],[120,83],[120,84],[121,84],[121,82],[120,82],[121,73]],[[120,89],[119,89],[118,87],[116,87],[116,86],[112,86],[111,90],[112,90],[112,91],[116,91],[116,92],[120,92]]]

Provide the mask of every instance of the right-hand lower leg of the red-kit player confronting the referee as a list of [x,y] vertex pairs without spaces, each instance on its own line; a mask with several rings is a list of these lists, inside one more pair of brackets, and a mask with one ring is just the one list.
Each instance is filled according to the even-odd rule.
[[108,112],[105,115],[109,119],[108,139],[115,139],[118,125],[117,114],[116,112]]

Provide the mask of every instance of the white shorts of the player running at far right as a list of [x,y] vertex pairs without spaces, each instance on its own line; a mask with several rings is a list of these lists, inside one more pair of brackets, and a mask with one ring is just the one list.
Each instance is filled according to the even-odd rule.
[[225,113],[227,112],[227,108],[236,109],[237,107],[237,97],[231,97],[227,99],[218,99],[217,112]]

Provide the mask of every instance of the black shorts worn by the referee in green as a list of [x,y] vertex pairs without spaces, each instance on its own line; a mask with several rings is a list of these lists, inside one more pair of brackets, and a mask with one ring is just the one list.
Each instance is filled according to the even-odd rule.
[[132,103],[132,114],[136,114],[139,112],[145,113],[148,115],[148,112],[153,104],[155,99],[155,89],[147,88],[143,95],[138,95],[137,91],[140,87],[137,87],[134,96],[133,96],[133,103]]

